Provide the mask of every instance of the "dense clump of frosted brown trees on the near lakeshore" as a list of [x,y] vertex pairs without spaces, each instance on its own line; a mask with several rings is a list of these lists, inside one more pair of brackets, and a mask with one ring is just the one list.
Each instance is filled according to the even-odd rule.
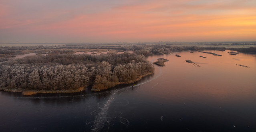
[[100,90],[133,82],[153,71],[143,55],[131,53],[30,56],[0,62],[0,87],[71,90],[93,85]]

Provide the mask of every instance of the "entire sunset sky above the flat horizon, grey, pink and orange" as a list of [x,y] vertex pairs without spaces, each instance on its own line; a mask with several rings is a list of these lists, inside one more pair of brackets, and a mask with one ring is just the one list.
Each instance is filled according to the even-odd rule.
[[255,41],[256,0],[0,0],[0,42]]

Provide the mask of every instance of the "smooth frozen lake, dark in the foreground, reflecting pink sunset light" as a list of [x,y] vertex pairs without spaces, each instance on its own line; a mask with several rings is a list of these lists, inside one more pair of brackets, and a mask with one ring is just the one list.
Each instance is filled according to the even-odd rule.
[[134,86],[103,92],[22,96],[1,91],[0,132],[255,132],[255,54],[208,52],[222,56],[189,51],[150,56],[152,62],[169,61]]

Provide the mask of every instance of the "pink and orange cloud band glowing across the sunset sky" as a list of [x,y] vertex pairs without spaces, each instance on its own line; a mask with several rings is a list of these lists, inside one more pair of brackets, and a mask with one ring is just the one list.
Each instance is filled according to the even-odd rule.
[[[242,5],[242,6],[239,6]],[[246,2],[195,3],[194,0],[119,4],[100,11],[81,6],[71,9],[38,10],[16,13],[18,9],[4,6],[0,11],[0,29],[24,36],[44,35],[72,40],[214,40],[256,38],[256,9]],[[231,6],[230,6],[231,5]],[[2,7],[3,5],[0,5]],[[98,8],[104,5],[98,6]],[[85,8],[86,7],[86,8]],[[95,9],[94,9],[95,8]],[[24,11],[25,12],[25,11]],[[4,33],[2,33],[4,34]],[[0,34],[1,35],[1,34]],[[239,37],[241,36],[241,37]]]

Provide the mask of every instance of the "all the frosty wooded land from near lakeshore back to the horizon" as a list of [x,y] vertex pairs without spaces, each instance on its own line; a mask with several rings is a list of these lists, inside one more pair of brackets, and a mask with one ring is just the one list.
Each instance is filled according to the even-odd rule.
[[[175,46],[173,44],[67,44],[54,46],[0,46],[0,90],[75,90],[92,86],[93,91],[133,83],[152,74],[146,60],[154,54],[185,50],[236,50],[256,52],[255,47],[225,48]],[[110,51],[111,54],[74,54],[77,51]],[[118,51],[133,51],[117,54]],[[12,58],[15,54],[36,56]],[[47,54],[45,56],[41,54]]]

